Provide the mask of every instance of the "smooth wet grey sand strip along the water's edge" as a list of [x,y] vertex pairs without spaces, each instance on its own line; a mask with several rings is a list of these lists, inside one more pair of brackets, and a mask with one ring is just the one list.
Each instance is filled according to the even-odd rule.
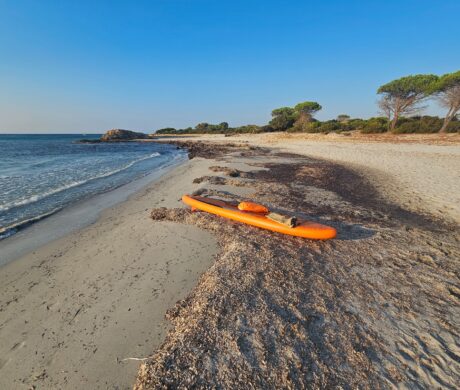
[[179,156],[179,158],[159,167],[154,172],[109,191],[65,206],[20,229],[11,236],[1,239],[0,268],[38,249],[42,245],[96,222],[105,209],[129,200],[136,192],[142,191],[144,187],[149,186],[186,161],[186,156]]

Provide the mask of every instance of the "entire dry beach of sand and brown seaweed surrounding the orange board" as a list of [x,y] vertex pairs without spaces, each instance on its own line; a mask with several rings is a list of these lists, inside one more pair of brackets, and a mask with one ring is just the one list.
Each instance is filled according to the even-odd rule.
[[[277,137],[193,137],[211,144],[0,268],[0,386],[454,388],[459,143]],[[339,236],[192,214],[195,191]]]

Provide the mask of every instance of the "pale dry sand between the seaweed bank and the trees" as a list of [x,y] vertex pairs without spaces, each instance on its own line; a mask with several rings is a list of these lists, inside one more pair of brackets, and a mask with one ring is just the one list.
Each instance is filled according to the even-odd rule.
[[460,135],[241,134],[168,137],[247,142],[346,164],[366,175],[386,198],[460,223]]

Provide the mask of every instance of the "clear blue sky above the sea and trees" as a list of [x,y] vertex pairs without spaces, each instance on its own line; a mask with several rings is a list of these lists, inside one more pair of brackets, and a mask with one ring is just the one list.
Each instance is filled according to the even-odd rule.
[[459,16],[459,0],[0,0],[0,132],[264,124],[304,100],[374,116],[382,83],[460,68]]

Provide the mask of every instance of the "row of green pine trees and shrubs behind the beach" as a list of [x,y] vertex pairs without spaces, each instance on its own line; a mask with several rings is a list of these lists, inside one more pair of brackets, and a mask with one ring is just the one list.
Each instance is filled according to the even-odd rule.
[[[199,123],[194,128],[166,128],[158,134],[237,134],[272,131],[328,133],[359,130],[364,133],[382,133],[390,129],[397,133],[432,133],[460,131],[460,71],[442,76],[417,74],[390,81],[377,89],[381,95],[378,102],[385,117],[351,119],[347,114],[339,114],[336,119],[319,121],[313,116],[322,109],[318,102],[305,101],[294,107],[279,107],[271,112],[268,125],[243,125],[230,127],[227,122],[219,124]],[[421,103],[435,97],[447,108],[444,118],[419,115]]]

